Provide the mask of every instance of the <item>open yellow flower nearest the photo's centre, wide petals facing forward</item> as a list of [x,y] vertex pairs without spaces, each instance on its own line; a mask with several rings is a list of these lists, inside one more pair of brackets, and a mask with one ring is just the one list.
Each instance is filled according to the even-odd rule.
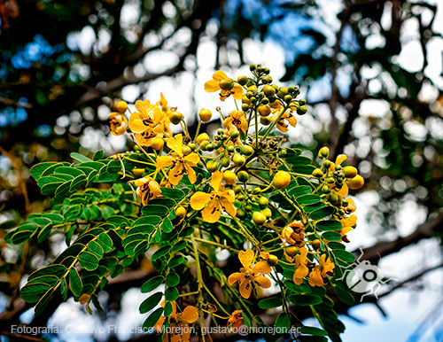
[[237,214],[237,209],[233,205],[236,200],[234,190],[225,190],[224,186],[221,186],[223,180],[223,174],[220,171],[215,171],[211,178],[211,186],[213,191],[206,193],[197,191],[190,198],[190,206],[194,210],[202,210],[201,214],[203,220],[209,223],[219,221],[221,216],[221,210],[224,210],[231,216]]

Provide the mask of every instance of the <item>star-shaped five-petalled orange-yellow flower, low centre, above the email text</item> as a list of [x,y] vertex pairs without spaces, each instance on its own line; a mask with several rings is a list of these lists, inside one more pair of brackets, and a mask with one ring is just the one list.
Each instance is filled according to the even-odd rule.
[[232,285],[238,282],[240,294],[243,298],[248,299],[251,296],[251,291],[253,291],[255,285],[263,289],[271,287],[271,282],[266,276],[258,276],[259,273],[268,275],[271,272],[268,262],[259,261],[253,266],[254,253],[252,249],[248,249],[246,252],[240,251],[238,259],[242,263],[243,268],[240,268],[240,272],[230,275],[228,283]]

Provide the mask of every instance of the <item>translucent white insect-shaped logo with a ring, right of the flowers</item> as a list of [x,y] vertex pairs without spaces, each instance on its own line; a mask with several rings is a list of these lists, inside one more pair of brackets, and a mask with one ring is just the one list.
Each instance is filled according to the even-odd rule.
[[384,279],[383,272],[376,265],[372,265],[368,260],[361,261],[363,250],[360,248],[361,255],[352,264],[346,268],[343,276],[338,280],[345,280],[347,287],[357,293],[364,293],[360,302],[370,294],[378,299],[377,291],[383,284],[389,283],[397,279]]

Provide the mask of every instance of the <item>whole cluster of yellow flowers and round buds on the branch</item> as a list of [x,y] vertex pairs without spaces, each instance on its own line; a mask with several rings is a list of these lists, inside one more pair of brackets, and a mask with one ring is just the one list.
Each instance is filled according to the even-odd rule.
[[[357,169],[345,166],[346,155],[331,161],[329,149],[323,147],[312,161],[291,148],[284,134],[296,128],[296,115],[307,113],[306,101],[298,98],[299,87],[278,87],[268,68],[252,65],[250,69],[253,77],[240,76],[236,81],[217,71],[205,83],[206,91],[217,92],[221,101],[231,98],[235,109],[223,113],[216,107],[217,117],[214,110],[201,109],[192,136],[183,114],[168,106],[162,94],[155,104],[136,101],[136,111],[128,120],[124,115],[128,105],[122,101],[110,115],[112,133],[128,132],[143,157],[122,155],[141,164],[129,171],[133,180],[128,182],[135,185],[141,205],[161,198],[166,188],[184,190],[186,196],[174,207],[172,229],[177,233],[183,227],[193,229],[195,248],[190,253],[197,263],[198,244],[237,254],[239,271],[219,281],[228,287],[229,296],[239,299],[266,296],[266,289],[283,286],[282,274],[293,286],[327,286],[334,281],[341,272],[334,251],[349,241],[347,234],[356,225],[356,206],[349,191],[364,185]],[[200,133],[201,123],[210,120],[220,120],[221,128],[211,135]],[[183,132],[173,135],[171,125]],[[229,237],[236,239],[229,241]],[[199,268],[198,263],[198,272]],[[165,322],[187,326],[204,313],[220,318],[216,307],[224,307],[205,302],[204,287],[200,272],[198,290],[190,292],[198,293],[196,307],[177,313],[174,301],[172,314],[161,316],[157,327]],[[229,326],[243,323],[242,300],[232,314],[224,316]],[[175,338],[188,340],[189,336]]]

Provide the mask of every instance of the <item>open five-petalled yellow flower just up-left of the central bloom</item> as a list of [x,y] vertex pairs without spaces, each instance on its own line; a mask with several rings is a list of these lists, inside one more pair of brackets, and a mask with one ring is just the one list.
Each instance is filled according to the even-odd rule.
[[157,169],[170,167],[174,164],[174,167],[169,171],[169,183],[177,185],[182,180],[184,172],[188,175],[190,183],[195,183],[197,176],[192,167],[197,167],[200,161],[198,154],[190,153],[187,156],[183,155],[183,136],[181,134],[167,139],[167,147],[172,150],[172,157],[161,156],[157,158],[155,162]]

